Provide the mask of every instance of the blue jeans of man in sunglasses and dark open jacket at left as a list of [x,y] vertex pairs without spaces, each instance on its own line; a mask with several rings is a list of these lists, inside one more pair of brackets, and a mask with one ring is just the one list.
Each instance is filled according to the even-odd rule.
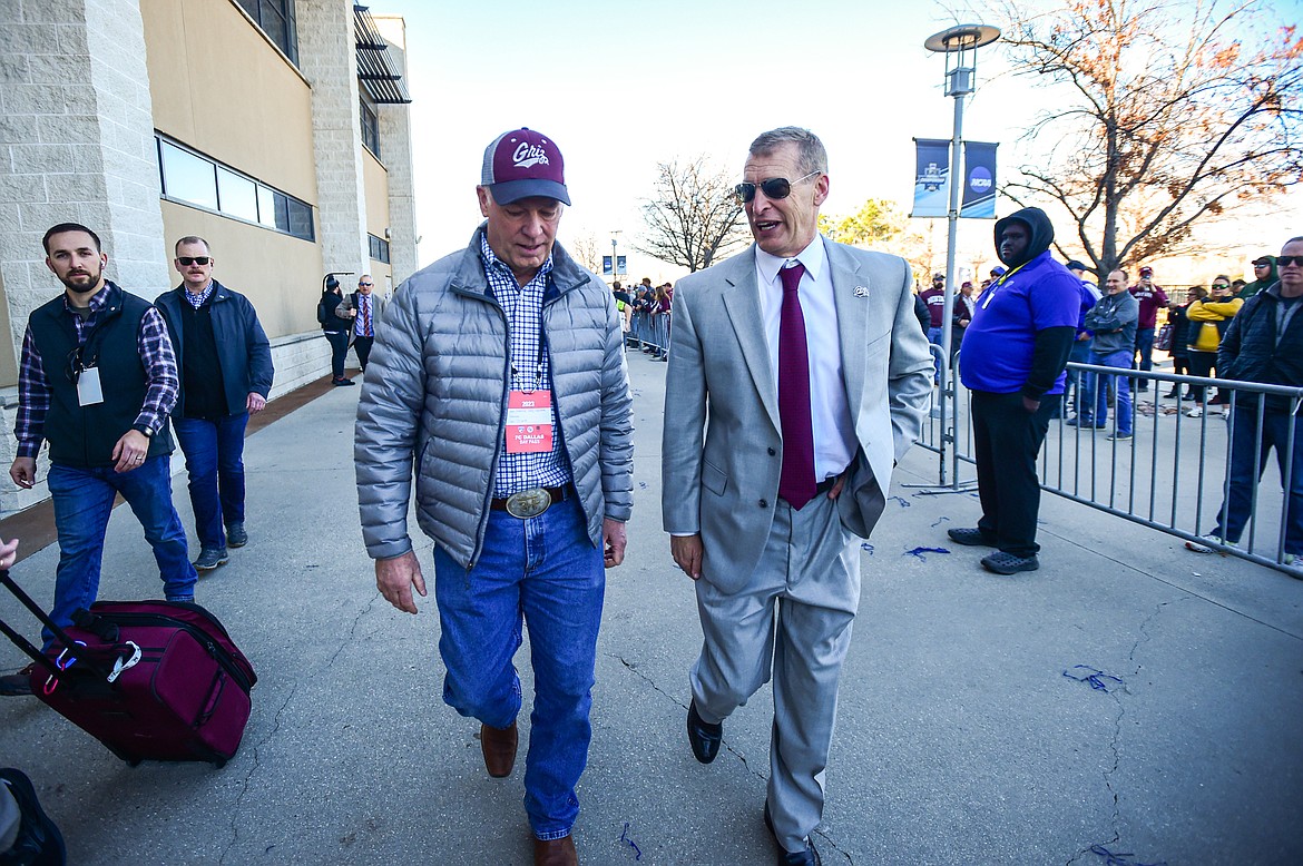
[[185,452],[194,530],[202,548],[225,547],[224,527],[244,522],[244,431],[248,425],[248,412],[218,421],[172,419],[172,430]]

